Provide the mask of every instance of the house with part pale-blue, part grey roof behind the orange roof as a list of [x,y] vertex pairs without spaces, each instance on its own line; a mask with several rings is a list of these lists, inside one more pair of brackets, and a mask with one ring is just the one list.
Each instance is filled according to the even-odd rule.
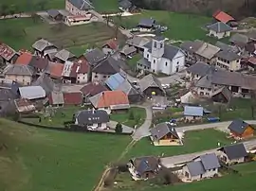
[[119,73],[107,78],[105,84],[111,91],[120,90],[124,92],[128,96],[130,103],[136,103],[142,98],[137,88]]

